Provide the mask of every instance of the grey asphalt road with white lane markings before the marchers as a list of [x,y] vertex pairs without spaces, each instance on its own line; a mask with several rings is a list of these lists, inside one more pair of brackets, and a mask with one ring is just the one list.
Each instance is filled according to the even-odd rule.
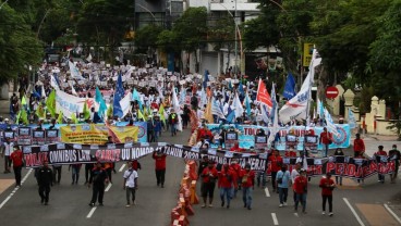
[[[189,131],[170,137],[167,133],[160,141],[186,143]],[[377,147],[380,141],[370,140],[369,146]],[[390,143],[386,143],[390,146]],[[400,146],[401,147],[401,146]],[[374,148],[372,148],[374,150]],[[170,211],[177,203],[180,179],[184,171],[181,159],[168,158],[166,187],[156,186],[154,160],[146,156],[139,160],[143,170],[138,172],[139,189],[137,204],[125,208],[125,191],[122,189],[122,173],[116,167],[113,184],[105,193],[105,206],[88,206],[92,189],[84,186],[84,168],[81,172],[78,185],[71,185],[71,172],[63,166],[61,185],[52,187],[49,205],[40,204],[37,185],[33,173],[23,170],[26,179],[20,189],[14,189],[13,174],[0,173],[0,225],[151,225],[165,226],[170,223]],[[3,162],[0,162],[2,172]],[[124,171],[125,168],[122,168]],[[208,226],[258,226],[258,225],[401,225],[400,184],[378,184],[377,176],[365,180],[363,186],[344,179],[342,187],[333,192],[332,217],[321,215],[321,197],[317,184],[319,178],[313,178],[307,194],[307,214],[293,210],[292,191],[289,192],[289,205],[279,208],[278,194],[272,193],[271,184],[268,189],[255,188],[252,210],[243,208],[242,193],[232,200],[231,208],[220,206],[217,189],[215,190],[214,208],[202,209],[194,205],[195,215],[190,216],[191,225]],[[10,186],[9,188],[7,188]],[[5,187],[5,189],[2,189]],[[198,186],[199,188],[199,186]],[[386,205],[385,205],[386,204]],[[387,209],[389,208],[389,209]],[[390,210],[390,211],[389,211]],[[394,214],[391,215],[391,212]],[[400,222],[398,222],[400,221]],[[4,224],[4,225],[5,225]]]

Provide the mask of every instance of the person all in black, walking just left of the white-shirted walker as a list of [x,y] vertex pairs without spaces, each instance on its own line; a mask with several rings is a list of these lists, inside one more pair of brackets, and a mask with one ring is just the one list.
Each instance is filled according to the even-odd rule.
[[105,168],[101,167],[101,162],[96,162],[95,167],[90,172],[88,187],[93,184],[90,206],[95,206],[96,200],[99,205],[104,205],[105,184],[109,183],[109,177]]

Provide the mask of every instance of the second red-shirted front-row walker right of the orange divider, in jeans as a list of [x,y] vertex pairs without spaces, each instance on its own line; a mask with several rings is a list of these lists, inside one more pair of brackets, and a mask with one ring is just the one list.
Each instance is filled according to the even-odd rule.
[[224,197],[227,200],[227,209],[230,209],[230,201],[232,199],[232,188],[234,187],[235,173],[230,168],[229,164],[224,164],[218,180],[218,187],[220,189],[221,206],[224,206]]

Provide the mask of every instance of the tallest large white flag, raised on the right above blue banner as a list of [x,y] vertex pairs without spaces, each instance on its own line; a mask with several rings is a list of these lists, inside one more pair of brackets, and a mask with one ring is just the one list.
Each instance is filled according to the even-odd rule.
[[291,120],[306,120],[308,115],[311,89],[315,75],[315,67],[319,65],[321,58],[317,58],[317,51],[314,49],[312,54],[312,61],[309,65],[309,72],[302,84],[300,91],[291,100],[280,109],[279,116],[282,123],[288,123]]

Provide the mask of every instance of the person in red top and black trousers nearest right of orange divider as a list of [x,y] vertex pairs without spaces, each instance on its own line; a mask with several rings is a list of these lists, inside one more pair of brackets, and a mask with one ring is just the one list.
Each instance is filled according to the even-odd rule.
[[202,208],[206,208],[207,194],[209,194],[209,208],[212,208],[212,198],[215,193],[216,179],[218,177],[218,173],[215,167],[214,161],[210,160],[208,162],[208,166],[203,170],[200,177],[202,177],[200,192],[202,198],[204,199],[204,204],[202,205]]

